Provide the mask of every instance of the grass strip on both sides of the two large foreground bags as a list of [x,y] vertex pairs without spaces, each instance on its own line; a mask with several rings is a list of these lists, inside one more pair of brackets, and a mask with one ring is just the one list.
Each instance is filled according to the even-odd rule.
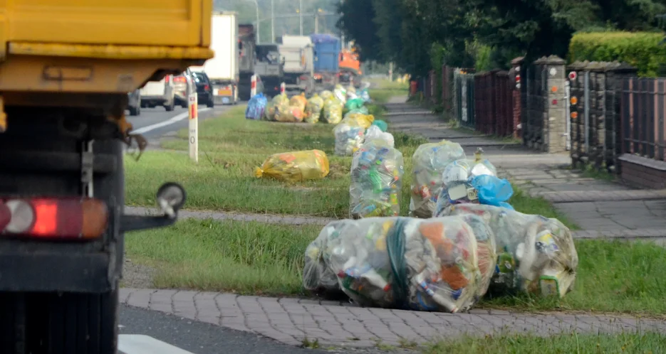
[[[303,252],[321,227],[182,220],[126,237],[128,257],[155,267],[160,288],[302,295]],[[650,243],[576,241],[575,289],[563,299],[504,296],[494,309],[567,310],[666,315],[666,249]]]

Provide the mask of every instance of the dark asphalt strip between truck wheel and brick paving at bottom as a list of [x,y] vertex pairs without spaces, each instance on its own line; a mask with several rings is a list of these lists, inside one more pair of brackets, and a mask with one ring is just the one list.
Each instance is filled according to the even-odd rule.
[[[385,353],[368,350],[320,350],[297,348],[249,332],[234,331],[209,323],[167,315],[159,311],[120,306],[120,334],[140,334],[169,343],[194,354],[331,354]],[[397,350],[393,353],[408,353]]]

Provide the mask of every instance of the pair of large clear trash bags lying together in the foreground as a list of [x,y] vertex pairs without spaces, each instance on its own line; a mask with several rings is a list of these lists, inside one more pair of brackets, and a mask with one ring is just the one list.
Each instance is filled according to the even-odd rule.
[[362,306],[466,311],[487,292],[564,296],[578,254],[556,219],[493,205],[443,217],[338,220],[306,249],[303,286]]

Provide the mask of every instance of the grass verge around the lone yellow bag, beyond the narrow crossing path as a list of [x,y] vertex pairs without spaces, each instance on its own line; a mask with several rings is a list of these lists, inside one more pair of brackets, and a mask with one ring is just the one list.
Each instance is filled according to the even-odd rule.
[[[393,92],[391,85],[395,83],[387,85],[387,90]],[[373,90],[372,95],[380,101],[376,92]],[[370,106],[378,119],[382,117],[382,107]],[[351,157],[333,154],[332,131],[329,124],[251,121],[244,118],[244,107],[231,108],[219,119],[202,122],[199,127],[199,164],[183,154],[188,149],[187,129],[178,132],[176,139],[162,141],[162,147],[169,151],[147,151],[140,161],[126,159],[126,201],[128,205],[153,206],[155,191],[162,183],[179,181],[187,190],[189,209],[347,218]],[[407,215],[411,156],[427,140],[400,132],[393,134],[396,148],[405,158],[401,215]],[[326,178],[288,184],[254,177],[254,168],[272,154],[310,149],[320,149],[328,155],[331,173]],[[518,190],[515,194],[511,203],[516,210],[561,218],[546,200],[530,198]]]

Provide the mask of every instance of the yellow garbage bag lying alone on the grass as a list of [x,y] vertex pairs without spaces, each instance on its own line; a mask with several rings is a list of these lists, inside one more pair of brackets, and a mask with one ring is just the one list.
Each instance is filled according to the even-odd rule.
[[292,151],[274,154],[261,167],[254,169],[256,178],[300,182],[328,175],[328,157],[321,150]]

